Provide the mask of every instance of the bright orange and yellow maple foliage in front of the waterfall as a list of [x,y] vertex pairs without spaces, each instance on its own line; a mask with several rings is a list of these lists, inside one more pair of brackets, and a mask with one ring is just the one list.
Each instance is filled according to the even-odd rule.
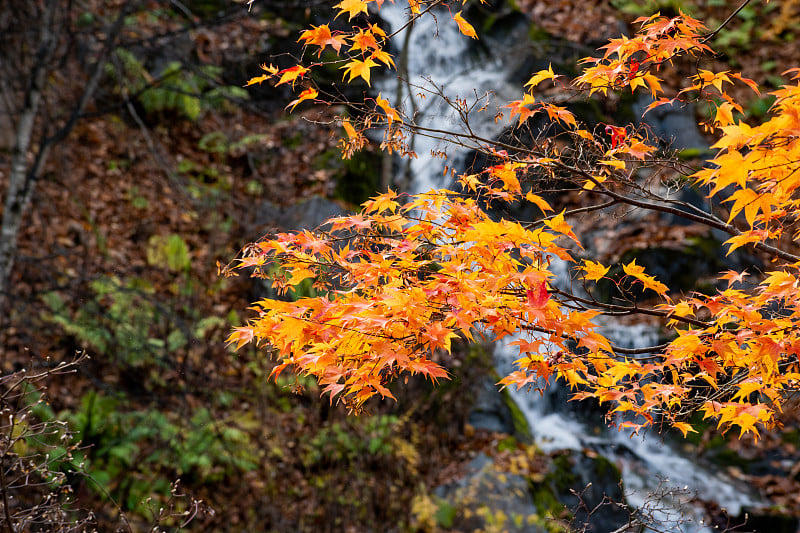
[[[392,36],[367,19],[381,4],[336,4],[336,27],[345,29],[311,27],[299,38],[306,62],[285,70],[264,65],[265,74],[249,83],[291,84],[297,93],[292,109],[304,101],[334,102],[313,76],[322,52],[332,51],[346,81],[370,84],[376,69],[395,67],[387,51]],[[476,38],[459,7],[409,0],[409,24],[436,13],[440,24],[457,24],[465,38]],[[451,133],[448,139],[481,151],[492,164],[458,176],[454,190],[385,192],[360,213],[331,219],[318,231],[277,234],[246,248],[236,268],[271,277],[283,293],[310,279],[322,296],[256,302],[255,318],[229,342],[257,342],[279,359],[273,374],[291,367],[314,376],[332,401],[358,409],[375,395],[392,397],[388,385],[398,377],[447,379],[447,354],[457,339],[513,335],[517,370],[501,385],[537,387],[539,378],[556,378],[576,398],[596,398],[609,413],[624,413],[621,426],[667,424],[686,434],[694,431],[690,416],[700,413],[720,427],[757,436],[760,426],[775,423],[800,379],[800,70],[785,73],[793,81],[774,93],[770,117],[751,126],[726,89],[758,87],[736,73],[698,68],[679,92],[667,95],[662,88],[660,73],[680,58],[699,65],[718,30],[684,14],[656,14],[636,24],[634,36],[613,39],[599,57],[584,59],[571,82],[552,68],[534,73],[520,98],[498,113],[509,127],[546,119],[554,125],[547,138],[510,145],[469,130]],[[566,94],[563,102],[540,97],[551,87]],[[714,109],[708,127],[716,134],[716,155],[688,176],[713,197],[719,206],[713,212],[642,181],[641,168],[656,169],[659,179],[659,169],[680,167],[645,130],[584,124],[566,105],[639,90],[653,97],[648,111],[682,101]],[[465,115],[471,110],[466,100],[448,104]],[[383,135],[383,150],[413,157],[406,140],[421,127],[400,102],[378,95],[353,108],[358,113],[342,119],[346,157],[368,142],[367,130]],[[565,188],[585,203],[555,209],[552,199],[537,193],[537,182],[569,183]],[[541,216],[523,223],[487,209],[516,203],[532,204]],[[728,253],[746,247],[771,266],[721,273],[721,289],[710,295],[673,291],[635,261],[618,265],[621,276],[611,279],[613,265],[589,256],[574,220],[613,206],[669,213],[723,231]],[[575,290],[554,284],[554,261],[567,263]],[[624,298],[594,296],[597,283],[609,280]],[[646,350],[615,346],[599,327],[603,315],[659,317],[665,342]]]

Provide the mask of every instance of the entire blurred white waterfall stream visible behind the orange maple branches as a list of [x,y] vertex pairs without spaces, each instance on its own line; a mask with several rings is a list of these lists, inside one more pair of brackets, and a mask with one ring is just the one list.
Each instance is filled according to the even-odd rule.
[[[407,14],[399,5],[388,2],[380,15],[392,31],[407,20]],[[521,26],[511,28],[507,42],[478,48],[458,32],[454,23],[445,20],[449,16],[447,11],[437,11],[435,18],[424,17],[417,21],[409,35],[401,32],[395,36],[395,43],[407,45],[403,52],[394,51],[398,64],[403,61],[403,54],[407,56],[405,79],[382,79],[376,83],[376,89],[394,99],[401,95],[404,111],[413,113],[417,123],[430,130],[466,133],[459,113],[450,104],[457,99],[468,103],[481,101],[468,115],[470,131],[484,138],[496,138],[508,125],[507,120],[495,121],[496,106],[517,99],[521,94],[521,88],[509,82],[512,69],[521,64],[521,59],[510,59],[508,50],[520,38],[526,38],[526,30]],[[491,50],[505,52],[493,56]],[[488,104],[487,109],[478,111],[483,104]],[[442,173],[445,166],[457,171],[467,166],[470,150],[454,150],[454,146],[446,142],[452,138],[445,137],[443,141],[435,136],[416,135],[413,149],[418,158],[411,160],[407,169],[412,177],[408,186],[410,192],[446,186],[448,182]],[[445,148],[446,157],[442,157]],[[558,261],[552,265],[558,276],[556,284],[566,285],[567,265]],[[658,331],[646,325],[608,323],[604,333],[618,345],[628,348],[652,346],[659,341]],[[517,348],[508,344],[512,340],[496,346],[495,361],[500,375],[511,371],[513,361],[518,358]],[[699,504],[690,502],[694,494],[700,499],[715,501],[731,516],[761,503],[749,487],[724,472],[699,464],[696,457],[683,455],[676,445],[655,432],[644,437],[629,437],[625,432],[605,427],[597,412],[585,416],[573,412],[573,405],[567,401],[569,394],[558,386],[548,387],[544,395],[525,389],[511,391],[511,394],[543,450],[588,449],[617,464],[628,502],[635,506],[657,507],[652,514],[664,531],[711,531],[702,525],[704,512]],[[663,493],[665,487],[684,489],[683,496],[654,500],[653,495]],[[691,522],[680,524],[680,517]]]

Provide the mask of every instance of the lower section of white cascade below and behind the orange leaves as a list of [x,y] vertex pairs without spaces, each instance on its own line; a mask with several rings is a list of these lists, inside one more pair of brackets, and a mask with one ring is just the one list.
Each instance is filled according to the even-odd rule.
[[[553,260],[551,269],[556,274],[554,284],[567,288],[567,264]],[[623,348],[647,348],[659,342],[657,329],[646,324],[608,322],[602,333]],[[501,375],[513,370],[513,361],[519,357],[518,347],[509,344],[513,340],[503,339],[496,345],[495,364]],[[643,505],[664,489],[682,489],[682,496],[670,495],[654,505],[657,510],[652,513],[653,519],[661,522],[661,530],[711,531],[702,525],[703,509],[690,501],[694,495],[713,500],[731,516],[739,515],[743,508],[761,503],[749,487],[699,464],[697,458],[681,455],[659,435],[629,436],[624,431],[600,426],[597,412],[581,417],[571,409],[569,392],[558,385],[545,385],[539,384],[539,388],[544,389],[543,394],[524,388],[510,389],[512,399],[525,414],[536,443],[545,451],[590,449],[614,462],[622,471],[626,499],[634,506]],[[678,526],[676,517],[689,522]]]

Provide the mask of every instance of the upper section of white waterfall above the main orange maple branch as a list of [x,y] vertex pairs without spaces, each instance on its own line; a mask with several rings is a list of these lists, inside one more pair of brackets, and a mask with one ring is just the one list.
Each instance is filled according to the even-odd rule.
[[[498,105],[518,99],[522,88],[510,84],[508,78],[508,50],[505,55],[490,55],[487,50],[497,47],[473,46],[474,41],[458,31],[455,22],[450,20],[446,10],[433,11],[435,16],[425,16],[417,20],[413,27],[405,29],[392,38],[396,45],[408,39],[408,75],[405,80],[387,77],[376,88],[383,96],[395,99],[398,83],[402,94],[400,108],[407,115],[414,116],[418,126],[431,130],[450,131],[456,135],[431,133],[433,137],[416,135],[413,150],[418,158],[411,160],[409,192],[427,192],[432,188],[446,186],[449,180],[443,169],[463,169],[467,148],[456,149],[453,139],[469,133],[456,109],[457,100],[466,101],[467,106],[476,102],[474,109],[467,114],[471,132],[475,135],[493,139],[508,126],[507,120],[495,121]],[[380,16],[389,23],[391,31],[401,28],[408,20],[408,14],[397,4],[383,4]],[[485,43],[484,43],[485,44]],[[399,51],[394,53],[400,65]],[[441,93],[437,95],[436,93]],[[444,97],[444,98],[443,98]],[[479,109],[485,108],[480,111]],[[461,137],[469,146],[477,147],[475,141]],[[432,155],[446,153],[446,157]],[[405,162],[404,162],[405,163]]]

